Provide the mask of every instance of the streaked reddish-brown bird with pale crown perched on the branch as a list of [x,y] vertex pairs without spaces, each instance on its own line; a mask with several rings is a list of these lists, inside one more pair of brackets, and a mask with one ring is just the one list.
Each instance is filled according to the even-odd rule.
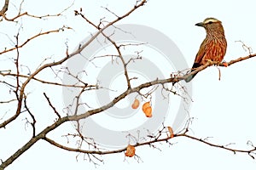
[[[216,18],[207,18],[203,22],[195,24],[195,26],[204,27],[207,36],[204,41],[201,42],[201,46],[195,56],[194,64],[189,72],[195,71],[196,68],[205,65],[208,61],[220,63],[224,59],[227,50],[224,27],[220,20],[217,20]],[[197,73],[198,72],[186,77],[184,79],[185,82],[190,82]]]

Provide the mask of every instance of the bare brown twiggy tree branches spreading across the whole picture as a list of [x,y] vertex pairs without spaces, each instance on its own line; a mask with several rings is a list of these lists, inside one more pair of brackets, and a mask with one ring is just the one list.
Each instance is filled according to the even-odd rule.
[[[4,6],[3,6],[2,10],[0,11],[0,15],[3,17],[4,20],[15,21],[18,18],[23,17],[23,16],[30,16],[33,18],[42,19],[44,17],[49,17],[49,16],[60,16],[62,13],[61,12],[60,14],[54,14],[54,15],[46,14],[44,16],[35,16],[32,14],[28,14],[27,12],[21,13],[22,3],[23,3],[23,1],[20,3],[20,9],[19,9],[18,14],[15,17],[13,17],[12,19],[8,19],[6,17],[5,13],[8,11],[9,0],[5,0]],[[80,11],[75,10],[74,11],[75,15],[81,16],[90,26],[93,26],[96,29],[96,33],[94,35],[92,35],[87,42],[80,44],[79,48],[75,49],[75,51],[73,53],[69,53],[68,47],[67,47],[65,54],[64,54],[64,56],[62,56],[61,59],[46,63],[44,65],[41,64],[38,67],[38,69],[36,69],[35,71],[29,70],[28,75],[24,75],[24,73],[22,74],[22,71],[21,71],[22,69],[20,69],[20,68],[22,68],[22,67],[20,67],[20,65],[21,65],[20,64],[20,51],[21,51],[20,48],[25,48],[26,44],[28,42],[32,42],[33,39],[37,39],[38,37],[48,35],[49,33],[54,33],[54,32],[57,33],[60,31],[72,29],[71,27],[63,26],[60,29],[39,32],[38,34],[27,38],[27,40],[25,42],[21,42],[21,43],[20,43],[19,32],[18,32],[18,34],[15,36],[15,38],[16,38],[15,47],[14,48],[6,48],[2,52],[0,52],[0,54],[7,54],[9,52],[16,53],[15,71],[10,71],[10,70],[9,71],[0,71],[0,75],[2,77],[9,77],[9,78],[12,78],[12,80],[15,80],[15,83],[5,82],[5,81],[1,80],[2,84],[4,86],[7,86],[10,89],[10,91],[12,93],[12,96],[11,96],[12,98],[4,99],[3,101],[0,101],[0,104],[4,105],[4,104],[9,104],[13,101],[16,102],[15,103],[16,107],[15,107],[15,111],[14,111],[13,115],[11,115],[8,118],[3,119],[3,120],[0,119],[0,121],[1,121],[0,128],[7,127],[8,125],[10,125],[11,122],[15,122],[16,118],[18,116],[20,116],[21,113],[24,113],[24,112],[26,112],[26,116],[29,116],[29,118],[26,118],[26,123],[30,123],[30,125],[32,126],[31,139],[29,139],[26,142],[26,144],[21,146],[19,150],[16,150],[15,153],[12,154],[11,156],[9,156],[5,161],[2,161],[2,164],[0,165],[0,169],[4,169],[5,167],[8,167],[11,163],[13,163],[15,160],[17,160],[17,158],[19,158],[22,154],[24,154],[27,150],[29,150],[33,144],[36,144],[38,142],[38,140],[40,140],[40,139],[43,139],[44,141],[48,142],[49,144],[52,144],[55,147],[60,148],[62,150],[82,153],[82,154],[84,154],[84,156],[87,156],[87,158],[95,164],[96,164],[96,161],[103,161],[102,159],[100,159],[100,157],[97,157],[97,156],[125,152],[125,150],[127,148],[122,148],[122,149],[117,149],[117,150],[106,150],[105,148],[102,148],[102,146],[100,146],[99,144],[96,144],[94,139],[84,137],[83,134],[80,132],[79,126],[77,127],[77,129],[76,129],[77,132],[75,134],[66,133],[66,135],[63,135],[67,139],[70,137],[73,137],[76,139],[79,138],[78,143],[77,143],[77,145],[78,145],[77,148],[69,147],[68,145],[57,143],[57,142],[55,142],[54,139],[49,139],[48,134],[50,132],[53,132],[56,128],[60,127],[61,125],[64,125],[65,122],[74,121],[79,124],[79,121],[82,119],[85,119],[89,116],[93,116],[93,115],[96,115],[103,111],[106,111],[109,108],[112,108],[114,105],[118,104],[121,99],[125,99],[125,97],[129,96],[130,94],[136,93],[137,96],[140,96],[141,98],[144,98],[144,99],[149,98],[150,99],[150,96],[154,93],[156,88],[161,88],[163,91],[166,90],[169,94],[177,94],[179,97],[183,98],[182,94],[177,93],[176,86],[180,85],[180,83],[178,83],[178,82],[183,81],[186,77],[189,77],[191,74],[195,74],[196,72],[203,71],[211,65],[218,65],[218,66],[226,67],[226,66],[234,65],[243,60],[251,59],[256,56],[256,54],[252,54],[252,51],[250,50],[250,48],[247,48],[247,46],[245,46],[243,44],[243,47],[247,48],[247,50],[249,50],[249,55],[247,55],[245,57],[230,60],[230,62],[225,62],[225,63],[220,63],[220,64],[217,62],[209,61],[209,62],[207,62],[206,65],[202,65],[201,67],[199,67],[196,70],[193,70],[189,73],[187,73],[185,71],[178,71],[177,73],[172,73],[172,75],[169,78],[166,78],[166,79],[156,78],[155,80],[152,80],[149,82],[144,82],[144,83],[137,85],[136,87],[132,87],[131,80],[135,79],[136,77],[129,77],[127,65],[129,65],[132,61],[135,61],[136,59],[140,59],[141,55],[140,55],[140,52],[137,52],[137,56],[135,56],[134,58],[128,59],[128,61],[125,61],[121,48],[124,48],[126,46],[131,46],[131,45],[140,45],[140,44],[131,44],[131,43],[130,44],[118,44],[117,42],[115,42],[112,39],[112,37],[111,37],[112,35],[107,35],[105,33],[105,30],[109,26],[114,26],[120,20],[125,19],[125,17],[129,16],[131,13],[133,13],[135,10],[137,10],[137,8],[142,7],[145,3],[147,3],[146,0],[137,0],[136,4],[133,6],[133,8],[131,8],[125,14],[120,15],[120,16],[115,14],[110,9],[105,8],[109,13],[111,13],[115,16],[115,19],[110,22],[107,22],[104,19],[101,19],[99,24],[93,23],[91,20],[89,20],[89,18],[87,16],[82,14],[82,9],[80,9]],[[68,7],[68,8],[70,8],[70,7]],[[64,11],[65,10],[67,10],[67,9],[64,9]],[[79,100],[79,99],[81,99],[82,94],[86,93],[86,91],[88,91],[88,90],[97,90],[97,89],[99,89],[99,86],[98,86],[98,84],[96,84],[96,85],[89,84],[89,83],[83,81],[82,79],[79,79],[78,75],[73,75],[68,70],[68,68],[65,71],[62,71],[61,73],[67,74],[68,76],[75,78],[77,82],[74,84],[62,84],[61,82],[58,82],[56,80],[51,82],[51,81],[48,81],[47,79],[38,78],[39,77],[38,75],[42,71],[45,71],[46,69],[51,69],[51,71],[53,71],[52,74],[54,74],[55,77],[59,78],[59,75],[58,75],[59,71],[55,71],[55,70],[53,70],[53,68],[63,65],[69,59],[73,59],[74,56],[76,56],[76,54],[81,54],[81,52],[84,50],[84,48],[87,48],[90,45],[90,43],[93,42],[94,40],[96,40],[96,38],[99,35],[102,35],[109,42],[111,42],[113,48],[115,48],[115,54],[106,54],[106,55],[98,56],[98,59],[104,58],[104,57],[112,57],[115,59],[120,59],[121,64],[123,65],[123,70],[124,70],[124,74],[125,74],[127,88],[121,94],[115,96],[115,98],[112,101],[108,102],[105,105],[96,107],[96,108],[92,108],[89,105],[87,105],[86,103],[85,104],[82,103]],[[96,58],[94,58],[94,59],[96,59]],[[63,68],[63,67],[61,67],[61,68]],[[82,73],[84,73],[84,72],[82,72]],[[36,115],[36,112],[30,110],[30,108],[29,108],[29,105],[28,105],[28,96],[29,95],[27,95],[27,92],[26,92],[27,87],[29,86],[29,84],[31,84],[30,82],[32,82],[32,81],[45,83],[48,85],[52,85],[53,87],[57,87],[57,86],[58,87],[72,87],[72,88],[79,89],[79,94],[77,96],[75,96],[73,99],[73,105],[75,106],[73,115],[61,116],[60,112],[57,111],[57,109],[56,109],[56,105],[54,105],[55,102],[53,102],[52,99],[49,99],[47,94],[44,92],[44,98],[47,100],[49,107],[52,109],[52,111],[54,111],[57,118],[55,119],[54,122],[49,123],[49,126],[44,127],[44,129],[41,132],[37,132],[36,131],[37,130],[36,123],[38,121],[36,119],[37,115]],[[167,88],[167,85],[172,85],[172,88],[169,88],[169,87]],[[143,94],[143,89],[145,89],[145,88],[150,88],[150,90],[148,90],[148,92],[146,94]],[[183,91],[185,91],[183,89],[183,87],[177,88],[177,89],[182,89]],[[14,95],[15,95],[15,97],[14,97]],[[87,105],[88,108],[90,108],[90,110],[84,111],[83,113],[79,114],[79,106],[80,105]],[[22,108],[25,108],[25,111],[21,111]],[[38,126],[38,124],[37,124],[37,126]],[[167,129],[169,129],[169,131]],[[192,135],[189,135],[189,125],[184,127],[183,131],[175,133],[175,134],[173,134],[173,132],[171,133],[170,131],[172,129],[171,130],[170,129],[171,129],[171,127],[163,126],[160,128],[160,130],[158,131],[157,134],[148,132],[147,137],[134,137],[131,134],[128,134],[127,138],[136,141],[135,144],[132,145],[132,147],[148,145],[154,149],[159,149],[157,147],[156,143],[165,142],[166,144],[171,145],[171,144],[173,144],[172,143],[173,138],[183,137],[183,138],[187,138],[187,139],[196,140],[198,142],[210,145],[215,148],[229,150],[229,151],[232,151],[233,153],[246,153],[249,156],[253,157],[253,159],[254,159],[256,147],[253,145],[252,142],[248,142],[248,145],[250,147],[249,149],[239,150],[239,149],[231,148],[230,145],[213,144],[206,139],[201,139],[201,138],[197,138]],[[84,147],[83,147],[84,144],[86,146],[89,145],[90,147],[92,147],[92,149],[90,149],[90,147],[89,147],[89,149],[84,149]],[[137,156],[137,155],[135,155],[135,156]],[[137,156],[137,159],[139,159],[138,156]]]

